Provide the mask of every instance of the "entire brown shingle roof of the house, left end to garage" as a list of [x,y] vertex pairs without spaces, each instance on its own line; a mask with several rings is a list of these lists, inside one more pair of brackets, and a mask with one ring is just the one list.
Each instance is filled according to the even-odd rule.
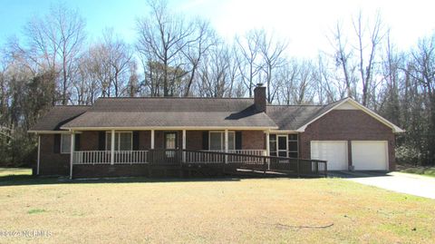
[[295,131],[337,101],[317,105],[268,105],[256,112],[254,99],[100,98],[92,106],[55,106],[31,131],[104,127],[258,127]]

